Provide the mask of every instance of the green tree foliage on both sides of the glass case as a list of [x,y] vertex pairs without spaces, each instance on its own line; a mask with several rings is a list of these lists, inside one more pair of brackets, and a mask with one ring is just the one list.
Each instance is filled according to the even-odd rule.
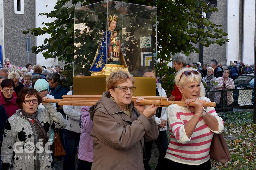
[[[38,54],[43,52],[45,58],[58,57],[59,61],[65,62],[67,86],[72,85],[73,76],[73,56],[74,56],[74,10],[75,7],[96,3],[95,0],[72,0],[71,7],[67,3],[71,0],[60,0],[51,13],[41,13],[39,15],[49,18],[56,18],[55,22],[44,23],[44,27],[33,28],[24,31],[24,34],[31,32],[32,35],[39,36],[45,33],[50,35],[44,40],[41,46],[32,47],[32,52]],[[167,89],[167,95],[174,86],[174,70],[167,66],[166,61],[171,60],[171,54],[182,52],[186,55],[199,53],[195,44],[202,44],[209,47],[210,44],[222,46],[228,39],[227,33],[220,29],[207,18],[202,18],[201,13],[217,12],[216,7],[208,6],[201,0],[125,0],[123,2],[155,6],[158,8],[157,20],[157,59],[156,66],[158,76],[161,77],[163,88]],[[95,26],[97,27],[97,26]],[[81,37],[82,38],[82,37]],[[86,43],[96,45],[95,40],[87,37]],[[89,49],[83,49],[88,51]],[[83,61],[80,61],[81,63]],[[88,72],[89,73],[89,72]]]

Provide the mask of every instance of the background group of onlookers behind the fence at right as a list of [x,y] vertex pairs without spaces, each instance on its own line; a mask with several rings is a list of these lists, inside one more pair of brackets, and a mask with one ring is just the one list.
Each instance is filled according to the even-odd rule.
[[[254,72],[254,69],[249,65],[238,61],[230,61],[230,65],[225,69],[222,66],[217,66],[218,61],[216,59],[211,60],[210,67],[207,64],[203,64],[203,68],[200,70],[202,75],[202,82],[205,83],[205,87],[208,91],[208,97],[211,101],[214,101],[217,105],[216,108],[231,107],[234,102],[233,91],[235,89],[234,80],[236,80],[242,74],[250,74]],[[218,92],[213,92],[218,90]],[[227,90],[224,95],[219,90]],[[224,101],[220,102],[220,101]],[[226,109],[232,111],[232,109]],[[218,112],[221,112],[220,109]]]

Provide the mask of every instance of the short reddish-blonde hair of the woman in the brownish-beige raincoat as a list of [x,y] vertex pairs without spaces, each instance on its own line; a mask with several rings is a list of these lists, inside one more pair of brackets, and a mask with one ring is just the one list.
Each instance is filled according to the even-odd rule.
[[106,87],[108,88],[108,93],[110,89],[114,90],[117,84],[124,83],[127,81],[127,79],[130,79],[132,81],[132,85],[134,84],[135,79],[128,72],[113,71],[112,73],[110,73],[109,77],[106,79]]

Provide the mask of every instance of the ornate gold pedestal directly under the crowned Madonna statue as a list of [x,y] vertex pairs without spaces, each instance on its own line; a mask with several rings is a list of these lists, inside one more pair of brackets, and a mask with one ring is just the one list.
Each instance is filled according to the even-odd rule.
[[92,76],[110,75],[111,72],[119,71],[119,70],[128,72],[128,69],[125,68],[125,66],[123,66],[123,65],[119,65],[119,64],[106,64],[100,72],[91,72],[91,75]]

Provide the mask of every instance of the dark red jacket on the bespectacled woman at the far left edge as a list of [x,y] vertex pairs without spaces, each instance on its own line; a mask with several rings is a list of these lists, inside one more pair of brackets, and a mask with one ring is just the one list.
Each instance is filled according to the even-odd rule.
[[16,105],[16,99],[17,98],[12,95],[12,101],[7,103],[3,98],[3,93],[0,92],[0,104],[4,106],[8,118],[11,117],[18,109],[20,109],[20,107]]

